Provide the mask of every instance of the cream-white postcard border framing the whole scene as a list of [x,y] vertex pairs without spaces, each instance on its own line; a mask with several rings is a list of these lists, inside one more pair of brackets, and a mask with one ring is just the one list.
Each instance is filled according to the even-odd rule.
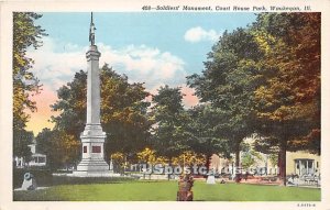
[[[320,202],[63,202],[63,201],[12,201],[12,12],[13,11],[33,11],[33,12],[147,12],[143,11],[143,5],[311,5],[312,12],[322,12],[322,42],[321,42],[321,91],[322,91],[322,191]],[[251,1],[251,0],[237,0],[237,1],[207,1],[207,0],[165,0],[165,1],[114,1],[114,0],[95,0],[95,1],[0,1],[1,14],[1,31],[0,31],[0,210],[12,209],[330,209],[329,195],[330,195],[330,143],[329,143],[329,118],[330,118],[330,71],[327,69],[330,63],[329,47],[330,47],[330,1],[329,0],[290,0],[290,1]],[[164,11],[151,11],[164,12]],[[166,11],[168,12],[168,11]],[[176,11],[174,11],[176,12]],[[217,12],[217,11],[213,11]],[[328,58],[328,59],[327,59]],[[328,166],[328,167],[327,167]],[[316,208],[297,207],[298,203],[316,203]]]

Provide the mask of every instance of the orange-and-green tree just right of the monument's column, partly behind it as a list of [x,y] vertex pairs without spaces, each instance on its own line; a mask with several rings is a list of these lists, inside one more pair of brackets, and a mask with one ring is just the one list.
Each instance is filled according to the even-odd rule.
[[150,145],[152,125],[147,115],[150,93],[144,84],[128,81],[108,65],[101,70],[101,121],[107,132],[107,153],[124,153],[132,158],[138,151]]

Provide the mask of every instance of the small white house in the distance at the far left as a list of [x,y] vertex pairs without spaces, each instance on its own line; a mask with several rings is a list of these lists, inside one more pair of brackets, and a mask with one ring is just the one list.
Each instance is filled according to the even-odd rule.
[[31,150],[31,161],[25,162],[23,157],[14,157],[15,167],[23,168],[25,166],[46,166],[47,163],[47,156],[44,154],[40,154],[36,151],[36,142],[33,140],[33,143],[29,145]]

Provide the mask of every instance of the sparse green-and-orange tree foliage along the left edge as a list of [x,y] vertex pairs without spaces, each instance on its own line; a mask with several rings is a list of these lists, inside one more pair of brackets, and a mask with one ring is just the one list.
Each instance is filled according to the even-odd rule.
[[[33,12],[13,13],[13,144],[20,144],[25,124],[30,115],[26,110],[35,111],[35,102],[30,96],[40,91],[41,85],[37,78],[31,71],[33,59],[26,57],[26,51],[33,46],[35,49],[42,46],[41,37],[46,35],[44,30],[34,25],[34,21],[42,15]],[[22,146],[14,150],[14,155],[19,156],[29,147]],[[16,147],[16,148],[19,148]]]

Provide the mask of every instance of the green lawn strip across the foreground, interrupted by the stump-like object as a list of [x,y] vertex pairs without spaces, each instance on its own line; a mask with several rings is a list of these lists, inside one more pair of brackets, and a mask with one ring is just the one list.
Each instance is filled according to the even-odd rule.
[[[176,181],[124,181],[63,185],[36,191],[14,191],[14,200],[175,201]],[[195,181],[197,201],[319,201],[320,189]]]

